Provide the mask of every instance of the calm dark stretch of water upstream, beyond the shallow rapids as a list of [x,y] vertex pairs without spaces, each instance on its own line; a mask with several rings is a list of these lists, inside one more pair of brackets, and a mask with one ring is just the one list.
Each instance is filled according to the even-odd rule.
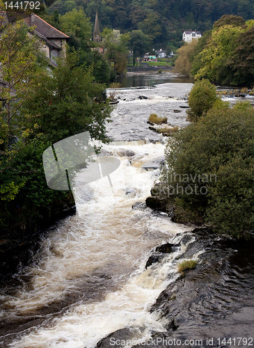
[[151,73],[143,73],[143,74],[133,74],[127,73],[126,77],[122,77],[118,80],[122,86],[122,88],[128,87],[151,87],[154,84],[166,84],[168,82],[173,83],[188,83],[193,84],[194,79],[189,77],[179,77],[172,72],[166,72],[158,74],[157,72],[154,74]]

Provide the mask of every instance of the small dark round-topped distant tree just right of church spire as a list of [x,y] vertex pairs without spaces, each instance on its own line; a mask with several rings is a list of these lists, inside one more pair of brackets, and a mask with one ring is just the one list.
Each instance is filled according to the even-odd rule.
[[129,49],[133,51],[133,65],[138,65],[137,58],[150,49],[151,39],[141,30],[133,30],[129,33]]

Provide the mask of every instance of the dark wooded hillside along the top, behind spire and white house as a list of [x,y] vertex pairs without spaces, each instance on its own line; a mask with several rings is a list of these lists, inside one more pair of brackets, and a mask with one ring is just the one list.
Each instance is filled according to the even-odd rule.
[[[50,4],[50,3],[49,3]],[[100,29],[117,29],[121,33],[141,30],[152,40],[152,49],[177,49],[182,32],[212,29],[223,15],[237,15],[245,20],[254,17],[254,4],[249,0],[56,0],[47,8],[65,15],[73,9],[83,10],[95,23],[96,11]]]

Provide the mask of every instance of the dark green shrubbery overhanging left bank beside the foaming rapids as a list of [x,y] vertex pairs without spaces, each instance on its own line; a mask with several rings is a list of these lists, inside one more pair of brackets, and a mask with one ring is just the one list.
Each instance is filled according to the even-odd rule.
[[[70,196],[70,193],[51,190],[47,187],[42,166],[42,152],[49,143],[33,141],[21,148],[18,155],[8,161],[5,171],[0,172],[1,234],[8,234],[13,239],[20,239],[20,231],[25,236],[34,233],[49,219],[57,205]],[[22,237],[24,239],[24,235]],[[24,242],[24,240],[23,240]]]

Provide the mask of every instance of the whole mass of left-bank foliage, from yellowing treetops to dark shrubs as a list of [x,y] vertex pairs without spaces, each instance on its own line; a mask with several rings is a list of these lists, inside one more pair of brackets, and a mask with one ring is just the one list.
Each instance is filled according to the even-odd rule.
[[[81,31],[75,35],[84,39]],[[90,68],[86,69],[75,50],[67,58],[58,58],[57,68],[49,70],[40,42],[28,35],[23,22],[3,29],[0,56],[5,81],[0,90],[1,237],[24,242],[57,209],[62,211],[67,202],[73,204],[72,193],[47,187],[44,150],[84,131],[93,139],[109,141],[105,124],[112,106],[106,102],[105,86],[93,75],[96,68],[96,79],[108,81],[103,74],[109,70],[98,52],[87,54]]]

